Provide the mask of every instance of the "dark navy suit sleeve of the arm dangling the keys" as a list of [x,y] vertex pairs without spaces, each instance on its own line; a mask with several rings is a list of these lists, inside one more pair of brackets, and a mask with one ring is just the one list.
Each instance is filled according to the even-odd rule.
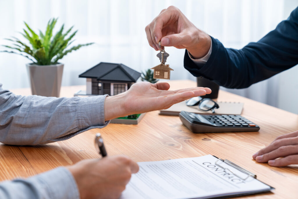
[[212,53],[199,67],[184,55],[184,67],[194,76],[203,76],[227,88],[246,88],[298,64],[298,7],[258,42],[241,50],[225,48],[212,39]]

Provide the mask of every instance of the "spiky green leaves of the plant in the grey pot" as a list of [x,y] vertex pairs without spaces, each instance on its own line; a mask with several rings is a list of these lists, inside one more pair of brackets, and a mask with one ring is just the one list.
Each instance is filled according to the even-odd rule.
[[[45,33],[42,33],[39,30],[39,35],[37,35],[26,22],[24,22],[28,31],[23,29],[24,33],[21,34],[29,41],[31,47],[29,47],[24,42],[20,41],[18,38],[12,37],[12,39],[7,40],[12,41],[13,46],[2,46],[7,47],[9,49],[13,49],[14,51],[4,50],[0,52],[15,53],[18,55],[22,55],[24,57],[27,57],[34,64],[37,65],[51,65],[57,64],[58,60],[60,60],[61,58],[63,58],[63,56],[72,52],[73,50],[78,50],[82,46],[88,46],[90,44],[93,44],[79,44],[66,50],[66,48],[69,47],[69,45],[72,44],[72,42],[74,41],[72,40],[72,38],[77,33],[77,30],[74,33],[72,33],[68,38],[66,38],[66,36],[72,30],[73,26],[65,33],[62,33],[64,28],[63,24],[60,30],[55,34],[55,36],[53,36],[52,33],[56,22],[57,18],[50,19],[46,26]],[[24,53],[26,53],[27,55]],[[36,61],[33,61],[34,59]]]

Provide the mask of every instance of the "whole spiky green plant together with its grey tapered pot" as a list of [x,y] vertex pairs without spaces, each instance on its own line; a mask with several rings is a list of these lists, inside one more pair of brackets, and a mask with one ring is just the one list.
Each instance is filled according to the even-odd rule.
[[1,52],[22,55],[32,61],[32,63],[26,64],[32,95],[59,97],[64,64],[58,61],[73,50],[93,44],[79,44],[68,48],[74,41],[72,38],[77,33],[77,30],[68,36],[73,26],[63,33],[63,24],[60,30],[53,36],[52,33],[56,22],[57,18],[50,19],[46,26],[46,31],[44,33],[39,31],[39,35],[24,22],[27,30],[23,29],[24,33],[21,34],[30,45],[15,37],[7,39],[13,42],[11,46],[2,45],[10,50]]

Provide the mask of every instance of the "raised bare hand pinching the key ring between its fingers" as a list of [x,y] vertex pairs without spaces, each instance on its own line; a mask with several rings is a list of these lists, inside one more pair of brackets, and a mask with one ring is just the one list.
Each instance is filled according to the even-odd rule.
[[186,48],[193,58],[204,57],[211,46],[210,36],[199,30],[176,7],[162,10],[145,28],[147,40],[151,47],[159,50],[162,46]]

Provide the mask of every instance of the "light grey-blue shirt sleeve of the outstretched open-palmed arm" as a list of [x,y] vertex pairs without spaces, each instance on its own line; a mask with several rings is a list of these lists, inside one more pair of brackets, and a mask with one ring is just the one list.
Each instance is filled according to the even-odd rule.
[[69,139],[103,128],[107,95],[55,98],[15,95],[0,84],[0,142],[36,145]]

